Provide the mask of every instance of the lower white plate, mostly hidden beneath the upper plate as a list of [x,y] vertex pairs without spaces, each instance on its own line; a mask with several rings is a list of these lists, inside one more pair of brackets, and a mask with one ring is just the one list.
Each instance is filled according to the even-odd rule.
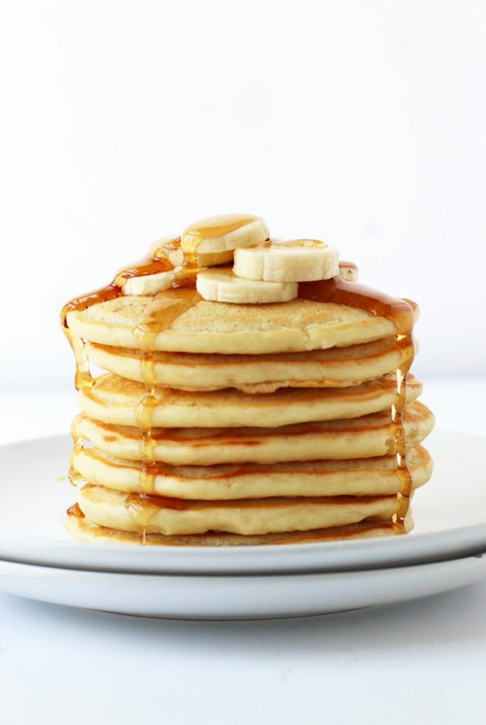
[[43,602],[137,616],[252,619],[324,614],[439,594],[486,576],[486,555],[371,571],[171,576],[0,561],[0,588]]

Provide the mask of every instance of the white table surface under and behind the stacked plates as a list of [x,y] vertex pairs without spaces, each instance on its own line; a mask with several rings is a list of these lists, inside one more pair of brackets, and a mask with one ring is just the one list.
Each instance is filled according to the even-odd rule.
[[[485,399],[485,378],[426,381],[437,428],[486,435]],[[1,410],[9,442],[26,437],[27,411],[30,436],[59,434],[76,405],[68,391],[8,391]],[[484,725],[485,676],[486,581],[402,605],[236,623],[0,595],[5,725]]]

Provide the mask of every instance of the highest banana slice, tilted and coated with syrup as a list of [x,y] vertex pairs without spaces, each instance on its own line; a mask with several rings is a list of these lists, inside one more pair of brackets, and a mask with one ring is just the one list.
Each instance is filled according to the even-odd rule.
[[224,214],[189,225],[181,235],[181,247],[186,259],[196,254],[213,254],[213,264],[221,264],[230,261],[228,252],[231,250],[254,247],[269,235],[268,226],[261,217]]

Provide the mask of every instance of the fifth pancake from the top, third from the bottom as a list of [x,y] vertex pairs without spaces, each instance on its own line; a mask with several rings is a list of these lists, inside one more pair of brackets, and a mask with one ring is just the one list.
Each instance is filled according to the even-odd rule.
[[[167,466],[147,468],[96,448],[75,450],[72,465],[83,479],[126,493],[144,492],[189,500],[237,500],[276,496],[397,494],[403,485],[396,456],[317,460],[270,465]],[[407,455],[413,489],[432,476],[432,459],[421,446]]]

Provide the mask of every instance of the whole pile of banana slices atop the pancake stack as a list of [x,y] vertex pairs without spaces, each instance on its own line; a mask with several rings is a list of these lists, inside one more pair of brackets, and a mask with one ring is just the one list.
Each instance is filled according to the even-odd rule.
[[[115,283],[123,287],[123,294],[150,295],[201,270],[197,289],[205,299],[258,304],[295,299],[297,282],[338,274],[349,281],[358,279],[356,265],[339,264],[337,249],[323,241],[269,241],[268,237],[268,226],[260,217],[228,214],[207,218],[189,225],[181,237],[172,235],[156,241],[149,249],[152,261],[125,270]],[[209,269],[233,260],[232,273],[228,268]],[[152,273],[154,268],[162,271]]]

